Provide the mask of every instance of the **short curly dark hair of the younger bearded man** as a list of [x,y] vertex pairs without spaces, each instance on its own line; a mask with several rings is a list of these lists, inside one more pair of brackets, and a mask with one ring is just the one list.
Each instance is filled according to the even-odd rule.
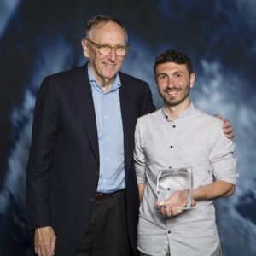
[[192,61],[189,59],[187,55],[184,55],[182,52],[178,52],[175,49],[167,49],[165,52],[163,52],[158,57],[156,57],[154,61],[154,75],[155,75],[156,67],[166,62],[186,64],[186,67],[189,71],[189,76],[191,73],[193,73]]

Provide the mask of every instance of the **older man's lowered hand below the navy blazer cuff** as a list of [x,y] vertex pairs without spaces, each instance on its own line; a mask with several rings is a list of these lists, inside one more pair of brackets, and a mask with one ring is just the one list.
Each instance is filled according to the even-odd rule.
[[38,256],[52,256],[55,254],[55,231],[51,226],[35,230],[35,253]]

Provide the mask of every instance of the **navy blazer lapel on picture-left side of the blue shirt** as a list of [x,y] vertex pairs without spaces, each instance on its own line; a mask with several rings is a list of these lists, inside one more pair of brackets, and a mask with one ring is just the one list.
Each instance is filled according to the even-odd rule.
[[96,127],[96,114],[88,79],[87,65],[88,64],[85,64],[84,67],[78,68],[78,74],[75,77],[75,82],[78,86],[73,88],[73,93],[79,107],[79,114],[84,125],[84,130],[88,136],[93,154],[95,155],[99,166],[100,160]]

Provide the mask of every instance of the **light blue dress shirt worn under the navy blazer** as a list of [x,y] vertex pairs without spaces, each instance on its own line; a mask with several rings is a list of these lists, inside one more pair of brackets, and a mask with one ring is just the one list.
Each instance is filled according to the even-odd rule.
[[100,152],[100,177],[97,192],[125,189],[124,134],[119,100],[119,74],[106,93],[96,82],[88,65],[89,83],[96,112]]

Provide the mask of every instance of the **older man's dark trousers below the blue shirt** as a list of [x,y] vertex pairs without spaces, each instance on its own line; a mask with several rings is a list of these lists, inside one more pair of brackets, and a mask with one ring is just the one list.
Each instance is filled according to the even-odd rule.
[[125,190],[96,201],[90,225],[75,256],[130,256]]

